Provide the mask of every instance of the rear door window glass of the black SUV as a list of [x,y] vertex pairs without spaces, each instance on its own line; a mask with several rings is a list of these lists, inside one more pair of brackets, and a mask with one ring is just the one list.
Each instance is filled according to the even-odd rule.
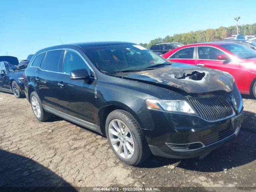
[[48,51],[42,63],[42,69],[60,72],[60,64],[63,62],[62,50]]

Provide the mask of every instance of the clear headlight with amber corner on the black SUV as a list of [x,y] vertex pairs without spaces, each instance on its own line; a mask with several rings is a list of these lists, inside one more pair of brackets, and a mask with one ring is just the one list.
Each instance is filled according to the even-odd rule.
[[146,105],[150,109],[195,114],[196,112],[186,100],[154,100],[146,99]]

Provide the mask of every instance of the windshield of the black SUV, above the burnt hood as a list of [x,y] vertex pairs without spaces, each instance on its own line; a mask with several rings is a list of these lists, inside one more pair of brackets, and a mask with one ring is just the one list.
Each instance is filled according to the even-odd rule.
[[84,51],[92,63],[104,73],[143,70],[171,64],[168,60],[140,45],[117,44],[95,46],[84,48]]

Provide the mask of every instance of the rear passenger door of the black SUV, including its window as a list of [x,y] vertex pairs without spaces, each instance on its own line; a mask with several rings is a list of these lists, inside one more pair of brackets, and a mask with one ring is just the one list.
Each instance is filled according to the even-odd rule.
[[[35,70],[37,92],[42,104],[54,109],[59,109],[60,91],[57,77],[61,70],[64,50],[47,51],[42,64]],[[33,65],[33,64],[32,64]]]

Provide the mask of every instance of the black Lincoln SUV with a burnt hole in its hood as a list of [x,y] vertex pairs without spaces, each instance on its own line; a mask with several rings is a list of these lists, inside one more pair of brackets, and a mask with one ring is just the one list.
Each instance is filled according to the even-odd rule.
[[106,135],[130,165],[151,153],[204,155],[235,138],[243,120],[230,74],[172,63],[128,42],[45,48],[34,54],[24,82],[39,121],[54,114]]

